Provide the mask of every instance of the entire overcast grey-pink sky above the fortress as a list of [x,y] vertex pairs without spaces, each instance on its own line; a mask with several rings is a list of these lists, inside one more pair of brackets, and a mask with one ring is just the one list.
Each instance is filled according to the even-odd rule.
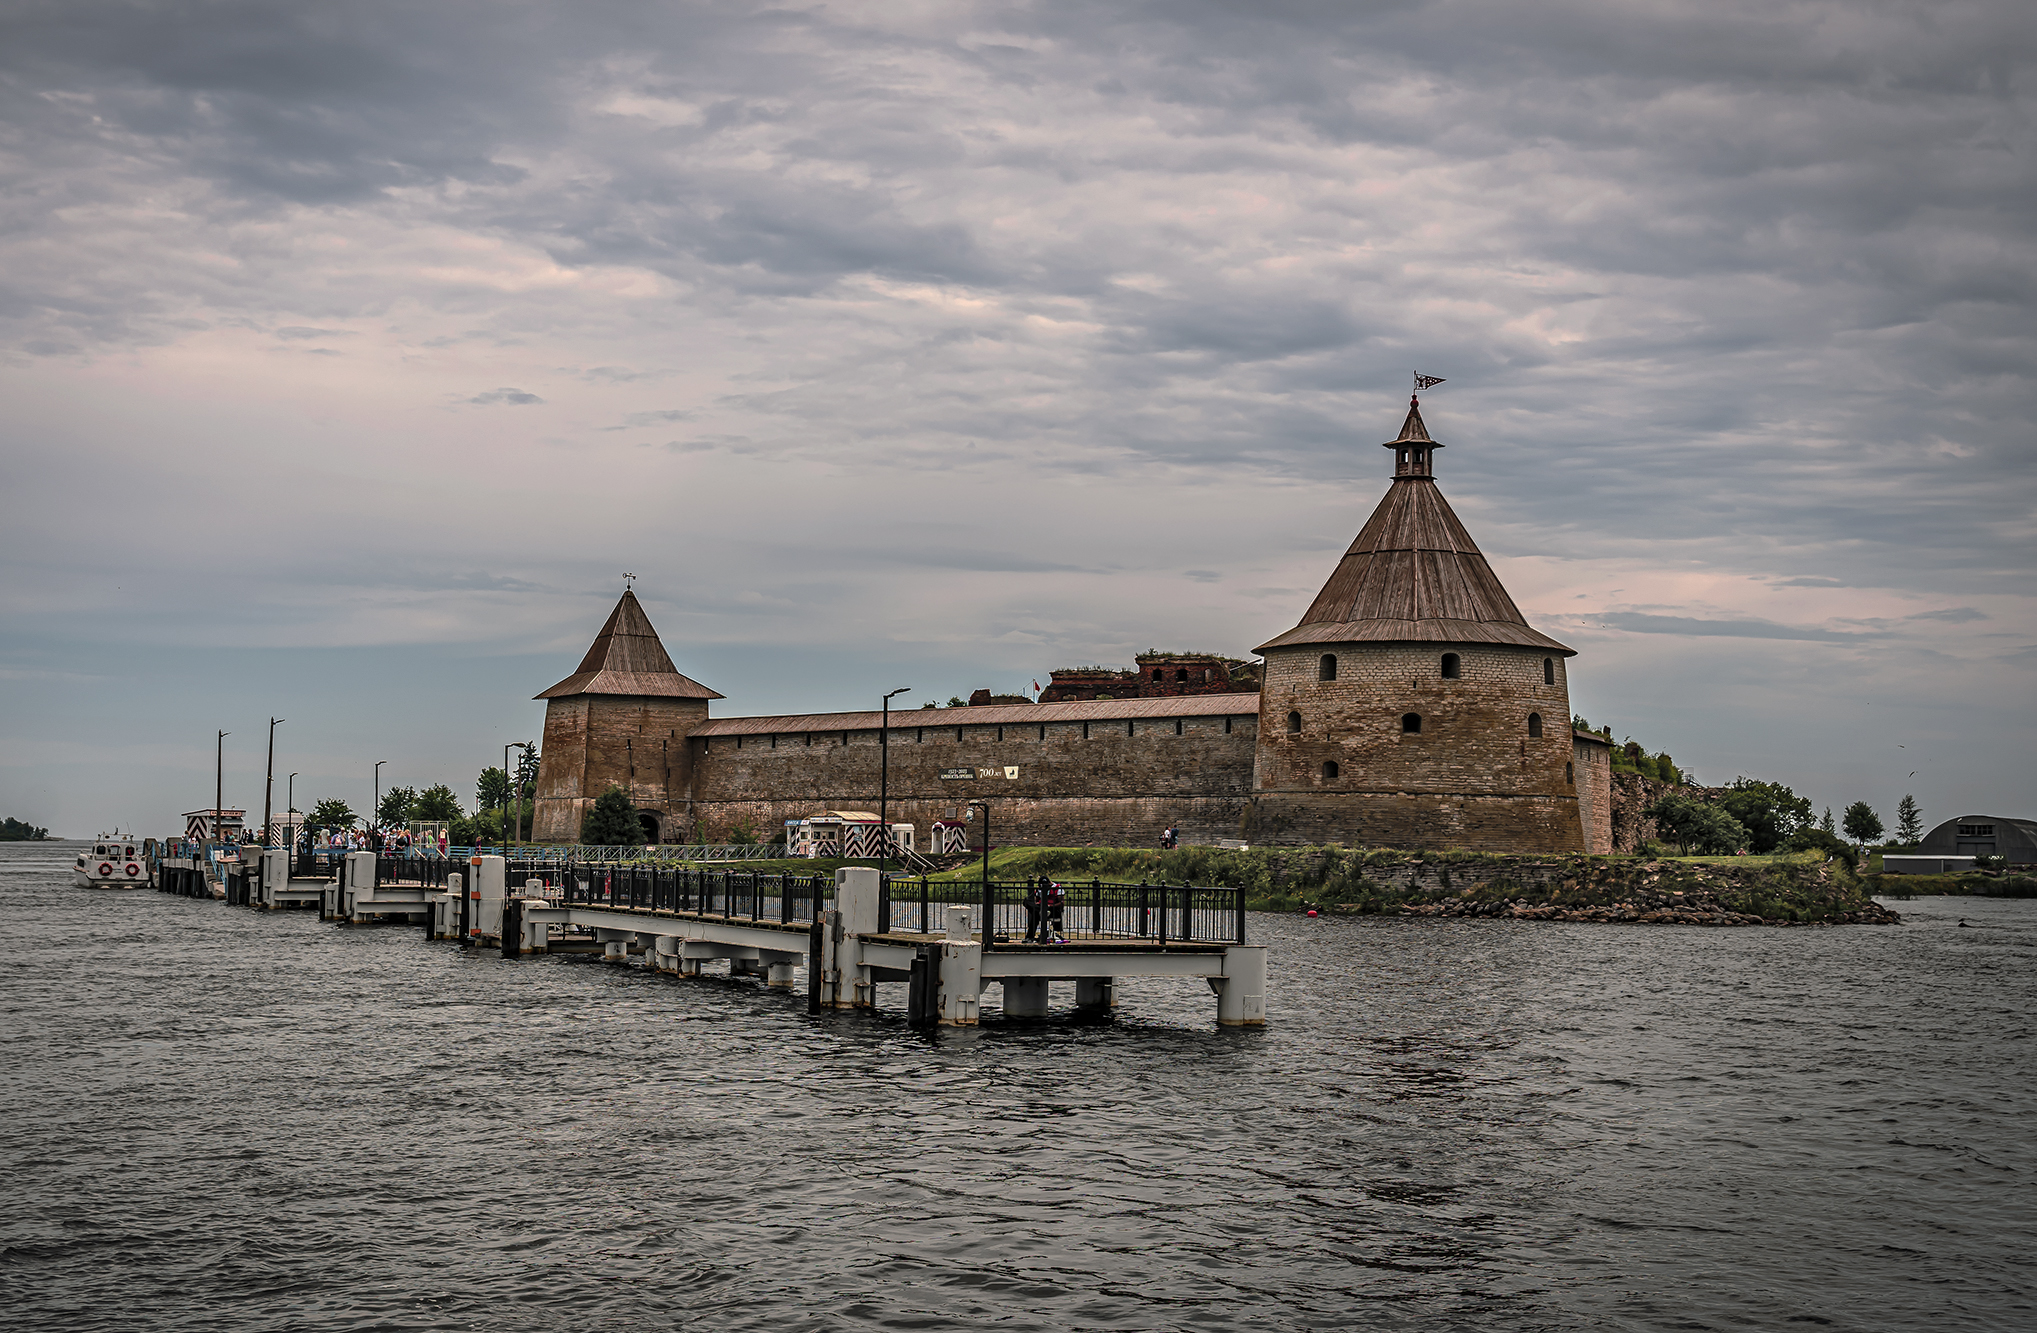
[[2027,0],[0,8],[0,813],[1291,626],[1444,493],[1699,779],[2037,815]]

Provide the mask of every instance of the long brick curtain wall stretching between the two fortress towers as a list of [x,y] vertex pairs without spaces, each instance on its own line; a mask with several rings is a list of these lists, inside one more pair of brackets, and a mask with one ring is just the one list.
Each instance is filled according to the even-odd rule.
[[[1179,734],[1175,732],[1179,722]],[[1226,722],[1228,732],[1226,732]],[[998,844],[1139,846],[1169,823],[1186,838],[1236,838],[1253,775],[1255,719],[1157,717],[1031,726],[894,726],[890,807],[925,838],[935,819],[992,801]],[[1088,730],[1088,734],[1084,734]],[[697,836],[713,842],[737,823],[762,834],[823,809],[878,807],[878,732],[697,738]],[[972,777],[941,777],[968,768]],[[980,770],[994,777],[976,777]],[[1016,777],[1004,777],[1014,768]],[[668,834],[668,838],[676,838]]]

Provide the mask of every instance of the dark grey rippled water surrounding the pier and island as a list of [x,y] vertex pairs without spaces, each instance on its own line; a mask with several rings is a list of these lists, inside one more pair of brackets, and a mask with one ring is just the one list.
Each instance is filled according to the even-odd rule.
[[2037,1325],[2031,901],[1255,917],[1261,1031],[923,1035],[67,864],[0,846],[8,1327]]

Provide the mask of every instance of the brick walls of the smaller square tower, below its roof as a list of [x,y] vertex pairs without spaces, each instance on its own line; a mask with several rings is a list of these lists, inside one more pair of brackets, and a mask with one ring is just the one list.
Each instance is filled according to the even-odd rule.
[[576,842],[587,809],[609,787],[629,791],[638,809],[660,813],[660,825],[682,815],[695,756],[686,736],[703,722],[707,699],[546,699],[534,836]]

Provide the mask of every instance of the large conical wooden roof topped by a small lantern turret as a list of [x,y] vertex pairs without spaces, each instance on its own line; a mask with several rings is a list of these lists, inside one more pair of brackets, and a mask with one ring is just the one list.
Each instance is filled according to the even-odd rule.
[[[1434,444],[1416,408],[1389,446],[1410,442]],[[1302,624],[1255,652],[1367,642],[1516,644],[1577,656],[1528,626],[1436,479],[1408,473],[1393,477]]]

